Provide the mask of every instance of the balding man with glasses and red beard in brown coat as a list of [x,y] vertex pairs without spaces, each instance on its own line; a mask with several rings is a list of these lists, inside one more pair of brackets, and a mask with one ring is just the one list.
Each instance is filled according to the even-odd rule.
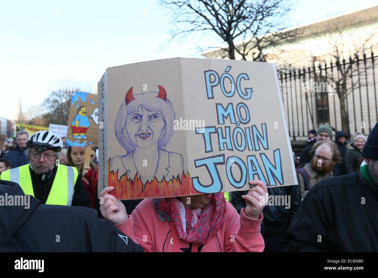
[[333,166],[341,162],[340,152],[332,141],[316,142],[311,148],[310,155],[312,157],[310,162],[297,169],[302,198],[317,182],[333,177]]

